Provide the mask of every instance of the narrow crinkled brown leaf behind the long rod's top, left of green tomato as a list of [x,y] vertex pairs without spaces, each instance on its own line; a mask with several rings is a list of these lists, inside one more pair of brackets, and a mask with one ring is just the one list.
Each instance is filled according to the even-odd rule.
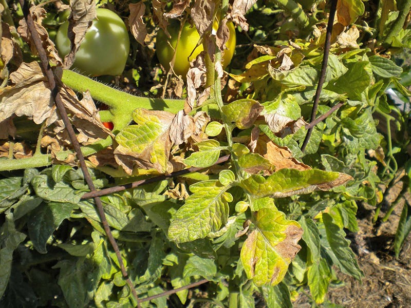
[[[40,35],[43,48],[47,52],[47,56],[48,56],[49,61],[54,65],[61,65],[62,60],[59,56],[59,53],[55,49],[54,43],[48,37],[47,30],[42,26],[42,20],[46,15],[46,10],[43,9],[42,7],[39,7],[39,6],[32,6],[30,8],[30,13],[33,17],[35,28],[36,28],[37,32],[39,33],[39,35]],[[18,34],[20,34],[21,37],[23,38],[23,40],[27,44],[29,44],[31,52],[33,54],[37,54],[37,49],[34,46],[34,43],[33,43],[32,38],[31,38],[30,31],[27,27],[25,19],[22,18],[18,22],[18,25],[19,25],[18,28],[17,28]]]

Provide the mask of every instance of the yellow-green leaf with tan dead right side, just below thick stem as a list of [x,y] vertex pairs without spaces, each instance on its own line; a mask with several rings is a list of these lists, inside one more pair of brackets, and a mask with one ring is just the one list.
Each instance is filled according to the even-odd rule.
[[119,146],[115,155],[126,156],[136,160],[140,167],[155,168],[164,173],[172,146],[169,132],[174,114],[137,108],[133,112],[133,119],[137,125],[129,125],[117,134]]

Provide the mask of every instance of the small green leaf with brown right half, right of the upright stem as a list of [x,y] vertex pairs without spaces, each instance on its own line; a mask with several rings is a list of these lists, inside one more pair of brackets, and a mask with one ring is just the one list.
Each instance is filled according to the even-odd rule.
[[251,127],[263,109],[260,103],[251,99],[241,99],[222,106],[226,120],[235,123],[239,129]]

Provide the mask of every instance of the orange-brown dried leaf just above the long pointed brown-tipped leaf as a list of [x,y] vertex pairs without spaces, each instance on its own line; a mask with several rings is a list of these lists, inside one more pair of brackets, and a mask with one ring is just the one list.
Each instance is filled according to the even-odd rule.
[[287,147],[280,147],[272,142],[266,135],[259,136],[254,153],[258,153],[275,166],[275,171],[284,168],[297,170],[311,169],[304,163],[297,161],[292,157],[291,151]]

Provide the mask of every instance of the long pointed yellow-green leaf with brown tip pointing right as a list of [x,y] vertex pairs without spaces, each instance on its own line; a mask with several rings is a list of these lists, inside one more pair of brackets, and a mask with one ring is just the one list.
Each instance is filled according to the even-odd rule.
[[268,178],[252,175],[242,180],[240,186],[255,198],[272,196],[283,198],[297,194],[308,194],[315,189],[330,189],[344,184],[351,177],[338,172],[319,169],[281,169]]

